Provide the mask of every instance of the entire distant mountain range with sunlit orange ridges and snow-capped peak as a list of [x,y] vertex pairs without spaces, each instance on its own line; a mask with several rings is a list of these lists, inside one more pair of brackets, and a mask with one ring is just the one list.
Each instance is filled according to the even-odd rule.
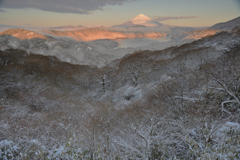
[[[113,27],[87,28],[85,26],[59,26],[50,27],[40,33],[23,29],[10,29],[0,35],[12,35],[19,39],[46,38],[46,35],[56,37],[70,37],[75,40],[92,41],[99,39],[128,39],[128,38],[161,38],[170,36],[178,39],[201,39],[214,35],[221,30],[230,30],[240,25],[240,17],[224,23],[218,23],[208,29],[191,27],[169,26],[140,14],[130,21]],[[8,26],[10,27],[10,26]]]

